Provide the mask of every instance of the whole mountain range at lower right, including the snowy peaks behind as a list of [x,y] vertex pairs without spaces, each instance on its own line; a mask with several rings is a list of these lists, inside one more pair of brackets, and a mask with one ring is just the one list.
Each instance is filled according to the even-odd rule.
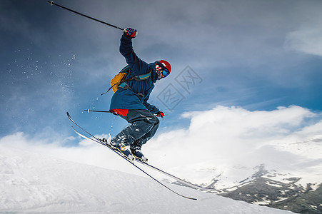
[[[239,168],[239,170],[251,171],[248,168]],[[213,188],[208,193],[222,195],[233,200],[291,210],[295,213],[322,213],[321,183],[306,183],[307,181],[303,183],[302,178],[292,177],[289,173],[266,170],[264,164],[252,170],[251,175],[242,178],[238,184],[233,186],[231,182],[225,182],[227,178],[224,173],[213,178],[208,185],[204,183],[201,185]],[[217,188],[216,183],[221,183],[219,185],[221,188]]]

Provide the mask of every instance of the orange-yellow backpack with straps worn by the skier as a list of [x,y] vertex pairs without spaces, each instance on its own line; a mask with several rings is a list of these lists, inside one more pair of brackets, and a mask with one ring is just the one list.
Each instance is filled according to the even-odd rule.
[[[125,81],[142,81],[146,78],[149,78],[151,76],[151,71],[149,73],[144,73],[139,76],[133,76],[131,78],[126,78],[126,76],[129,74],[130,67],[129,65],[122,68],[122,70],[114,76],[114,78],[111,79],[111,88],[107,90],[105,93],[108,93],[111,89],[114,91],[114,93],[117,91],[121,83],[124,83]],[[127,85],[127,84],[126,84]],[[129,86],[128,86],[129,88]],[[127,89],[127,88],[126,88]],[[102,93],[101,95],[104,95],[105,93]]]

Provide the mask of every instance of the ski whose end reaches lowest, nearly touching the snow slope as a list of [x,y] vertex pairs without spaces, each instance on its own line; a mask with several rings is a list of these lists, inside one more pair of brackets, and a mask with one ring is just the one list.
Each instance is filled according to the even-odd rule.
[[[126,158],[125,156],[123,156],[122,153],[114,150],[113,148],[107,146],[104,142],[100,141],[99,138],[96,138],[95,136],[93,136],[91,133],[89,133],[88,131],[86,131],[84,128],[81,128],[81,126],[79,126],[72,118],[71,118],[71,115],[67,113],[67,116],[69,118],[69,120],[74,123],[77,127],[79,127],[82,131],[84,131],[85,133],[87,133],[89,136],[91,136],[91,138],[87,137],[87,136],[84,136],[82,135],[81,133],[79,133],[78,131],[76,131],[76,129],[71,126],[71,128],[74,129],[74,131],[79,135],[81,136],[82,138],[86,138],[86,139],[89,139],[90,141],[94,141],[96,143],[99,143],[103,146],[106,146],[107,148],[111,149],[111,151],[114,151],[114,153],[118,154],[119,156],[121,156],[122,158],[124,158],[124,160],[128,161],[131,165],[134,165],[135,168],[141,170],[142,173],[144,173],[145,175],[148,175],[152,180],[156,181],[156,183],[159,183],[160,185],[162,185],[164,188],[170,190],[172,193],[175,193],[176,195],[179,195],[183,198],[186,198],[186,199],[190,199],[190,200],[197,200],[196,198],[191,198],[191,197],[188,197],[188,196],[185,196],[185,195],[181,195],[180,193],[177,193],[175,190],[172,190],[171,188],[168,188],[168,186],[164,185],[163,183],[161,183],[159,180],[156,180],[156,178],[154,178],[152,175],[150,175],[149,173],[146,173],[145,170],[143,170],[142,168],[140,168],[138,165],[134,164],[134,162],[132,162],[131,160],[129,160],[129,158]],[[136,160],[136,159],[135,159]]]

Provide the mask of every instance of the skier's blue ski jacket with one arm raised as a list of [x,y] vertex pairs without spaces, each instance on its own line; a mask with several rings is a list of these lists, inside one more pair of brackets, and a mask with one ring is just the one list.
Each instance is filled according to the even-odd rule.
[[[126,78],[139,76],[150,71],[151,76],[143,81],[126,81],[131,89],[119,87],[111,98],[110,110],[146,109],[151,113],[158,113],[159,109],[148,103],[150,93],[158,78],[156,75],[156,63],[148,64],[136,56],[132,46],[132,39],[129,39],[124,34],[121,37],[120,53],[124,56],[126,63],[130,67],[129,74]],[[143,94],[143,96],[140,96],[138,93]]]

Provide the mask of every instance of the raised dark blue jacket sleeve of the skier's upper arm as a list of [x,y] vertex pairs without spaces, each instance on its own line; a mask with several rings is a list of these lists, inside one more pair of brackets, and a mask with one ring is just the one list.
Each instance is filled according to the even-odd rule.
[[121,37],[120,53],[126,59],[126,63],[128,63],[134,75],[137,76],[147,73],[149,69],[148,63],[136,56],[132,46],[132,39],[126,37],[124,34]]

